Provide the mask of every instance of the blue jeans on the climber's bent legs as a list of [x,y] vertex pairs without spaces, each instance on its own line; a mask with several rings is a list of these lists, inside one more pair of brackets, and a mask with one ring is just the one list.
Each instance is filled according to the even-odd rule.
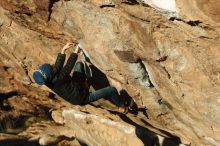
[[[76,65],[74,66],[73,78],[79,83],[85,83],[87,78],[85,75],[84,65],[82,62],[77,62]],[[108,87],[96,90],[95,92],[90,92],[85,97],[82,104],[88,104],[90,102],[99,100],[104,97],[111,100],[116,106],[120,106],[122,103],[121,98],[116,88],[112,86],[108,86]]]

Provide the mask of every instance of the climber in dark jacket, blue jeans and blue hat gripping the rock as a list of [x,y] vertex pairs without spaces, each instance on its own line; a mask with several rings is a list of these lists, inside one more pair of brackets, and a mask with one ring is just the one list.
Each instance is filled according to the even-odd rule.
[[[65,51],[74,46],[76,49],[65,62]],[[81,48],[77,43],[67,43],[61,53],[58,53],[54,65],[43,64],[33,73],[35,82],[39,85],[46,85],[60,97],[74,105],[85,105],[100,98],[107,97],[118,106],[118,112],[127,113],[126,107],[115,87],[108,86],[94,92],[89,92],[88,75],[85,74],[85,64],[77,62]],[[75,64],[76,63],[76,64]],[[88,66],[87,66],[88,67]],[[71,71],[74,70],[72,76]]]

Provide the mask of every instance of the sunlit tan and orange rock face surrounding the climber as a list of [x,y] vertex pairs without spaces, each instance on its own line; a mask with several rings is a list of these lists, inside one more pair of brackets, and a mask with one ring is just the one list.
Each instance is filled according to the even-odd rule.
[[[134,0],[1,1],[1,119],[57,109],[20,132],[41,145],[220,145],[219,2],[171,0],[175,15],[150,2],[156,9]],[[33,70],[53,64],[70,40],[94,65],[95,89],[111,84],[140,109],[120,116],[107,101],[72,106],[33,83]]]

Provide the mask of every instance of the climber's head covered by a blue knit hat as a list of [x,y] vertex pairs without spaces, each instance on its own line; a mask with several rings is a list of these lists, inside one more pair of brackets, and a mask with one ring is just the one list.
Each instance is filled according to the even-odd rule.
[[51,81],[54,77],[53,67],[50,64],[41,65],[36,71],[33,73],[33,78],[35,82],[39,85],[43,85],[49,81]]

